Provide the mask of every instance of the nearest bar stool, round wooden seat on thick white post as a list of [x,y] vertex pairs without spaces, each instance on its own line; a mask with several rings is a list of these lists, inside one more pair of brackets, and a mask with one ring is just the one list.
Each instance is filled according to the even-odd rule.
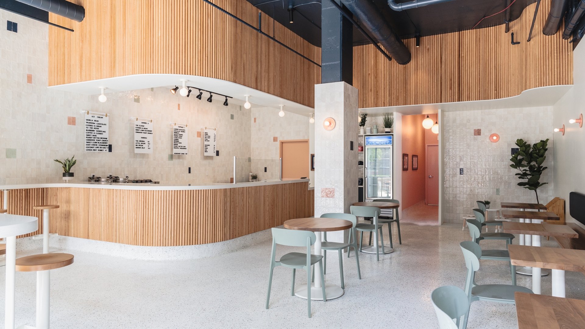
[[18,272],[37,272],[36,327],[23,324],[17,329],[49,329],[50,270],[71,264],[73,264],[73,255],[70,253],[39,253],[16,259]]

